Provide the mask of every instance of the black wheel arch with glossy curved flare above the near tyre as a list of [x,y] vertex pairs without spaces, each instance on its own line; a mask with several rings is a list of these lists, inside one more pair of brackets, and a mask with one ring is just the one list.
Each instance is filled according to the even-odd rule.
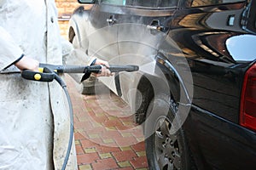
[[182,101],[183,105],[191,104],[189,92],[186,86],[184,85],[183,79],[179,75],[175,67],[172,65],[172,63],[168,61],[166,58],[164,58],[163,54],[158,54],[155,60],[157,68],[159,68],[158,70],[162,72],[162,75],[164,75],[164,79],[166,80],[166,85],[164,83],[158,83],[160,87],[157,88],[161,89],[163,86],[168,86],[168,92],[161,90],[158,90],[157,92],[154,91],[155,87],[153,87],[152,82],[161,81],[160,77],[154,77],[148,74],[143,75],[143,77],[140,79],[137,85],[137,90],[140,93],[140,95],[136,95],[135,102],[136,105],[140,104],[139,106],[136,106],[137,110],[135,121],[138,124],[141,124],[145,121],[148,105],[150,104],[150,101],[154,99],[154,96],[157,94],[169,94],[170,97],[172,97],[172,99],[177,103],[181,101],[181,98],[185,98],[183,99],[185,101]]

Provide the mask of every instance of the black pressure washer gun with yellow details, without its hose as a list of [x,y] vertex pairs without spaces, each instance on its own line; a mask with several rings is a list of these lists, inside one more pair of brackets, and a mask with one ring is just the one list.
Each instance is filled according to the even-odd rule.
[[[139,67],[137,65],[110,65],[108,70],[111,72],[131,72],[138,71]],[[52,82],[55,79],[55,74],[58,73],[84,73],[84,77],[81,79],[81,82],[83,82],[90,77],[92,72],[101,73],[101,71],[102,65],[78,66],[40,64],[39,71],[22,71],[21,77],[39,82]]]

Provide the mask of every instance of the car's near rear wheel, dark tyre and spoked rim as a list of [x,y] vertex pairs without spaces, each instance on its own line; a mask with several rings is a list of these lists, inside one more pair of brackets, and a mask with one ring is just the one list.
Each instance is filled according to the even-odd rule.
[[149,169],[188,170],[189,151],[183,128],[171,133],[177,105],[165,94],[150,102],[144,126]]

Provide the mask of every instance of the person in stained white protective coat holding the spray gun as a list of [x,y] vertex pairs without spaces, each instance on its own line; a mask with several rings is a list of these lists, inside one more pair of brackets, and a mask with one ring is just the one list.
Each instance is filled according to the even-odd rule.
[[[27,81],[19,73],[38,71],[38,63],[62,65],[66,43],[57,22],[54,0],[0,0],[1,170],[58,170],[64,162],[70,122],[61,86]],[[84,65],[92,60],[84,54]],[[74,142],[66,169],[77,169]]]

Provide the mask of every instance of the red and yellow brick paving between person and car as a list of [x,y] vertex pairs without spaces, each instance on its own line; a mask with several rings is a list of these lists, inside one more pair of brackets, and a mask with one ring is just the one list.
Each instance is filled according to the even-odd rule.
[[132,122],[131,111],[116,95],[79,94],[66,77],[73,101],[75,144],[79,170],[148,169],[142,128]]

